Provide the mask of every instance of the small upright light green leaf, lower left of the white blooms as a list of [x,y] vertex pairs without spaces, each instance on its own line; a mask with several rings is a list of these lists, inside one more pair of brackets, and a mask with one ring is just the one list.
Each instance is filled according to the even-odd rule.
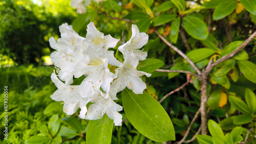
[[48,123],[48,129],[53,136],[55,136],[59,130],[60,122],[58,121],[58,118],[59,118],[58,114],[54,114],[50,118]]

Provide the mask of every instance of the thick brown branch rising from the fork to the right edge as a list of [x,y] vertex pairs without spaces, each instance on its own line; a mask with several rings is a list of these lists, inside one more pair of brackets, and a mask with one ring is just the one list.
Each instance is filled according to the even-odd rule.
[[205,69],[205,73],[209,74],[211,69],[214,68],[216,65],[218,65],[219,63],[230,59],[231,57],[233,57],[234,55],[236,55],[240,50],[244,49],[244,47],[251,42],[254,38],[256,37],[256,31],[251,34],[251,36],[246,39],[240,46],[237,47],[236,50],[234,50],[233,52],[229,53],[228,55],[223,56],[222,58],[218,59],[216,62],[212,63],[208,68]]

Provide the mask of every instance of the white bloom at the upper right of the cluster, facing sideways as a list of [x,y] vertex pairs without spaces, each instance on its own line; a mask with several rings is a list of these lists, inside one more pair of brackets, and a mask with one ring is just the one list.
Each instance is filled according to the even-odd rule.
[[[134,55],[139,60],[145,60],[147,52],[139,51],[142,46],[144,46],[148,41],[148,35],[146,33],[140,33],[139,28],[136,25],[132,25],[132,37],[129,41],[118,47],[120,52],[124,53],[126,51],[134,53]],[[125,55],[124,55],[125,59]]]

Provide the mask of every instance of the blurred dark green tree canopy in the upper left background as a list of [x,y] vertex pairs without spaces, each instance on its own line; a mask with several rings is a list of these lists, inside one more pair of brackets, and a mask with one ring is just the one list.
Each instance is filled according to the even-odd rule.
[[76,16],[70,1],[34,3],[30,0],[0,2],[1,61],[9,58],[17,64],[42,64],[41,57],[51,51],[49,38],[53,35],[57,38],[59,25],[71,22]]

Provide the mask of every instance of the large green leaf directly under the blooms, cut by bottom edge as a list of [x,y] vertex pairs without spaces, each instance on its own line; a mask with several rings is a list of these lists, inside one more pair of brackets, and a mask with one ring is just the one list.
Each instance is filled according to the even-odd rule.
[[101,119],[91,120],[86,133],[86,142],[111,143],[114,121],[104,114]]

